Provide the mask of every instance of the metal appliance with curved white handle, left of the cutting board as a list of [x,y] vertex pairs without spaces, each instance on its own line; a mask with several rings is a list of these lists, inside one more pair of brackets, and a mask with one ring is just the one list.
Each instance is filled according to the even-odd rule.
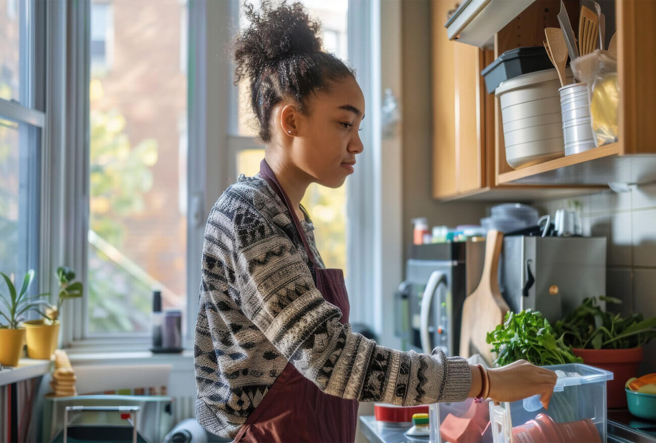
[[403,348],[430,353],[440,347],[447,356],[457,354],[462,303],[483,272],[482,240],[412,246],[397,293],[396,334]]

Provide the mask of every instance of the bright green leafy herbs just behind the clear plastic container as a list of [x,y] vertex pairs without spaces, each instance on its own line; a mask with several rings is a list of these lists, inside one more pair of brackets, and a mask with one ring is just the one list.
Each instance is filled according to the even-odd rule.
[[508,312],[503,324],[487,333],[487,343],[497,354],[497,366],[522,359],[538,366],[583,362],[562,339],[556,340],[554,329],[541,312],[532,309],[519,314]]

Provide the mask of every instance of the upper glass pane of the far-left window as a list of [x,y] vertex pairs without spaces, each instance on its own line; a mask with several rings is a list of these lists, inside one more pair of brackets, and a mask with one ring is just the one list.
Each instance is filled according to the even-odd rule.
[[21,56],[25,58],[21,49],[26,52],[28,43],[20,26],[20,16],[26,14],[25,3],[28,2],[0,0],[0,98],[5,100],[21,100],[20,87],[24,79],[20,60]]

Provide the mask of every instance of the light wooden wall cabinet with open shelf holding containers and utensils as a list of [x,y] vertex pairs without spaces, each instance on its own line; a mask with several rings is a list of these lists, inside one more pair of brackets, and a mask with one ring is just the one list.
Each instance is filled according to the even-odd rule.
[[[564,3],[577,33],[579,1]],[[544,28],[559,27],[560,1],[527,5],[516,16],[501,18],[503,11],[516,14],[516,9],[484,8],[481,14],[495,12],[490,20],[499,21],[492,25],[499,32],[479,39],[484,43],[478,48],[449,40],[444,24],[455,9],[453,0],[432,1],[434,198],[538,200],[590,192],[609,182],[656,180],[656,61],[647,55],[656,53],[654,0],[614,4],[619,142],[521,169],[506,163],[499,99],[486,93],[480,71],[504,51],[541,46]]]

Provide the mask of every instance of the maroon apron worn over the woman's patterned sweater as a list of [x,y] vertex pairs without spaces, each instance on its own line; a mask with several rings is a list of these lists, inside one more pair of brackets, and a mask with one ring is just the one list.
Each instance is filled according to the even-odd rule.
[[[260,176],[285,202],[312,263],[314,283],[326,301],[340,308],[340,322],[346,324],[349,305],[342,270],[317,266],[296,211],[266,160],[260,163]],[[234,441],[353,442],[356,438],[358,405],[358,400],[325,394],[288,362],[274,385],[241,426]]]

